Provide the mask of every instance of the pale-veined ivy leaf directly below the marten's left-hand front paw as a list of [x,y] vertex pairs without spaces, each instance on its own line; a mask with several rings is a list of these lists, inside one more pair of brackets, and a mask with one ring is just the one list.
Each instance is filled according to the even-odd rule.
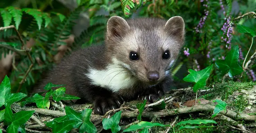
[[121,127],[119,126],[120,118],[121,118],[121,112],[116,112],[111,118],[106,119],[104,118],[102,121],[103,129],[108,130],[111,129],[112,133],[117,133],[121,130]]

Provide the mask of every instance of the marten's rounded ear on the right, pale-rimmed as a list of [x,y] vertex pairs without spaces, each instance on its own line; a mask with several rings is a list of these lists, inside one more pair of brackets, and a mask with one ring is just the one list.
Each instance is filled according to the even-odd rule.
[[175,38],[184,39],[185,23],[182,17],[175,16],[170,18],[164,25],[164,30]]

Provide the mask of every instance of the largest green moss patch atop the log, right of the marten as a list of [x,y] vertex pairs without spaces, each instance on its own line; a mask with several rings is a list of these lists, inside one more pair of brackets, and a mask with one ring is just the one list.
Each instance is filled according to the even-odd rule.
[[211,89],[210,91],[207,91],[207,94],[200,93],[199,98],[203,98],[206,100],[212,100],[216,97],[220,97],[221,100],[228,99],[228,96],[232,95],[235,91],[241,91],[242,89],[248,89],[252,88],[254,85],[256,85],[255,82],[246,82],[246,83],[240,83],[240,82],[234,82],[234,81],[228,81],[224,83],[212,83],[211,88],[210,87],[204,87],[202,90]]

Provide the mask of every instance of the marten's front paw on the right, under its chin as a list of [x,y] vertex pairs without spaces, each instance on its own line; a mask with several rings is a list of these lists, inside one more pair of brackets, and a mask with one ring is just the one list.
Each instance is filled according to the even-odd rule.
[[138,100],[144,101],[147,100],[147,104],[156,102],[159,98],[164,95],[163,91],[158,90],[157,92],[144,92],[141,95],[138,95]]

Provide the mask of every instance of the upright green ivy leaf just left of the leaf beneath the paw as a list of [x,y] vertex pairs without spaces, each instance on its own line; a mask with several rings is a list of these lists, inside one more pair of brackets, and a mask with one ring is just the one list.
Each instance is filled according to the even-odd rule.
[[82,112],[82,116],[83,116],[83,124],[81,125],[79,132],[84,133],[96,133],[97,132],[97,128],[94,126],[94,124],[90,121],[90,117],[91,117],[91,113],[92,110],[91,109],[85,109]]

